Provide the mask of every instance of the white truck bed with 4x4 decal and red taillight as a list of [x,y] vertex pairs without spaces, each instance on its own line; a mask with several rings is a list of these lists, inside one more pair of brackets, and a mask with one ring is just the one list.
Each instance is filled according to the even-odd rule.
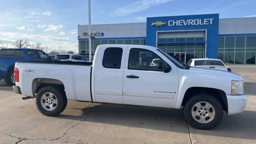
[[[19,69],[21,93],[35,97],[36,87],[42,83],[63,84],[67,99],[91,101],[90,80],[92,62],[29,61],[16,62]],[[32,90],[31,90],[32,87]]]

